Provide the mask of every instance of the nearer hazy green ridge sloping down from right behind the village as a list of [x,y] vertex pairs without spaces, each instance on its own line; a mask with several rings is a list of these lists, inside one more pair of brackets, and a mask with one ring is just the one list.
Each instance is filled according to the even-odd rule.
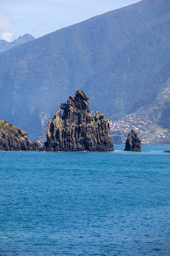
[[[161,21],[131,40],[107,67],[93,74],[84,88],[91,98],[89,107],[114,118],[129,112],[142,93],[143,106],[150,102],[151,94],[145,91],[151,90],[149,83],[170,59],[169,31],[169,20]],[[157,91],[157,87],[152,86],[152,90]]]

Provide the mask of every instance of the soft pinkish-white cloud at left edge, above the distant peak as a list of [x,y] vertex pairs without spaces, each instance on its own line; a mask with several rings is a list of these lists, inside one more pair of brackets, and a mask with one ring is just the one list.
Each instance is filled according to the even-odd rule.
[[0,32],[11,31],[12,28],[17,26],[17,23],[11,17],[11,13],[2,13],[0,12]]

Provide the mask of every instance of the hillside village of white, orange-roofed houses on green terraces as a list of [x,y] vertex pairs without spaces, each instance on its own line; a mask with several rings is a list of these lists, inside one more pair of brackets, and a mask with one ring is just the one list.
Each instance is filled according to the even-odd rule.
[[131,129],[138,133],[142,144],[170,144],[170,129],[163,129],[152,123],[146,113],[135,113],[109,121],[110,133],[115,144],[125,143]]

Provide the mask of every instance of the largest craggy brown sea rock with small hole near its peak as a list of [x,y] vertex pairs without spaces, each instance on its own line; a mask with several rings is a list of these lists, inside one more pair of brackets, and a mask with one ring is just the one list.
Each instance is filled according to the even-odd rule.
[[92,115],[88,99],[79,90],[76,97],[70,96],[67,104],[58,107],[48,122],[47,141],[41,151],[114,151],[110,123],[100,112]]

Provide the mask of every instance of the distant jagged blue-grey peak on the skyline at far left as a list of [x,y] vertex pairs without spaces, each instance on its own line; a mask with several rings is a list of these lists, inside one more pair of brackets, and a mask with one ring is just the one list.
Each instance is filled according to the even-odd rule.
[[29,35],[29,34],[25,34],[23,36],[19,36],[18,39],[15,39],[12,42],[8,42],[6,40],[2,40],[0,39],[0,52],[4,52],[7,51],[15,46],[17,46],[18,44],[23,44],[26,42],[29,42],[31,40],[35,39],[35,37]]

